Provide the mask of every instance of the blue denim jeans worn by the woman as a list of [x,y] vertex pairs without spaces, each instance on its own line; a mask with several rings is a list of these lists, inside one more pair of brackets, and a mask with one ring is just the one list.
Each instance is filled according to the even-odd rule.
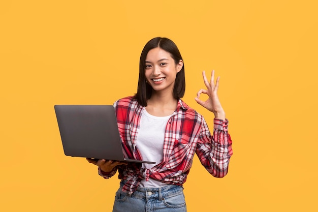
[[113,212],[186,212],[181,186],[169,185],[162,188],[138,187],[132,195],[116,192]]

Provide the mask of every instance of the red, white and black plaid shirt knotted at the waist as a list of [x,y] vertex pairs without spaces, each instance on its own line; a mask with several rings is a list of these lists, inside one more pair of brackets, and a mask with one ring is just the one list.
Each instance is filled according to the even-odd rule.
[[[114,107],[125,157],[142,160],[136,141],[144,107],[133,97],[116,101]],[[147,180],[149,177],[166,184],[182,185],[196,153],[209,173],[215,177],[224,177],[233,154],[228,123],[228,120],[214,118],[211,135],[203,116],[179,100],[177,109],[167,123],[164,158],[161,163],[151,169],[143,169],[141,164],[130,163],[117,166],[110,173],[99,169],[99,174],[109,178],[118,169],[118,178],[125,180],[122,190],[129,194],[136,191],[141,179]]]

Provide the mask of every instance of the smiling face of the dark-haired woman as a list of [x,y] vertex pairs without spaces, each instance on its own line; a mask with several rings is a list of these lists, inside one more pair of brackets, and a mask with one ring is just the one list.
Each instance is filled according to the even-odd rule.
[[170,92],[174,87],[177,73],[182,69],[183,61],[175,64],[170,53],[157,47],[151,49],[145,61],[145,76],[147,83],[155,92]]

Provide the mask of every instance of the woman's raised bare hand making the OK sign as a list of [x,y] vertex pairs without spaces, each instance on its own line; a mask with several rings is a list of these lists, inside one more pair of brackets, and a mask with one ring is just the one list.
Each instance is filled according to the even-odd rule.
[[[207,89],[200,89],[195,100],[198,104],[213,112],[215,118],[225,120],[225,111],[223,110],[217,96],[217,89],[220,77],[217,77],[216,83],[214,83],[214,70],[212,71],[210,82],[206,78],[205,71],[202,72],[202,75],[204,84]],[[206,94],[209,98],[206,101],[202,101],[199,99],[201,94]]]

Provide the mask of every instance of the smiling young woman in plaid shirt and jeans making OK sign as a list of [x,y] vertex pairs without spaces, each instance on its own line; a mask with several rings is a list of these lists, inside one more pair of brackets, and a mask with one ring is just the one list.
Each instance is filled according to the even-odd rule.
[[[113,212],[186,211],[183,183],[197,154],[211,175],[224,177],[232,156],[228,120],[219,102],[214,71],[207,89],[196,101],[214,114],[213,135],[202,115],[188,107],[184,95],[184,65],[177,46],[167,38],[153,38],[140,56],[137,94],[114,103],[126,157],[155,161],[136,164],[87,159],[104,178],[117,170],[121,179]],[[206,94],[208,99],[199,99]]]

